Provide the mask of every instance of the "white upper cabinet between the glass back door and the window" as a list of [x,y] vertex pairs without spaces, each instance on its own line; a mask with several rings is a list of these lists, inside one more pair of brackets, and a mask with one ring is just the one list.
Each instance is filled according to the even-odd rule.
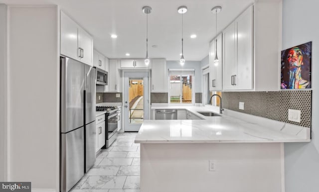
[[151,92],[168,92],[168,77],[165,59],[152,59]]

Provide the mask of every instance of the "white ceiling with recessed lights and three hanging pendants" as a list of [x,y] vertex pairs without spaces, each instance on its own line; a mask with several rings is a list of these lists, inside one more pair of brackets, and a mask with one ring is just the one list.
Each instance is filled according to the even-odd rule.
[[[177,7],[186,5],[184,14],[184,57],[200,61],[208,55],[209,41],[215,36],[215,14],[220,31],[253,0],[0,0],[6,4],[57,4],[94,37],[94,48],[108,58],[144,58],[146,55],[146,15],[149,5],[149,56],[179,60],[181,53],[181,15]],[[112,39],[111,34],[117,34]],[[197,38],[191,39],[190,35]],[[157,45],[153,48],[152,45]],[[131,56],[125,56],[130,53]]]

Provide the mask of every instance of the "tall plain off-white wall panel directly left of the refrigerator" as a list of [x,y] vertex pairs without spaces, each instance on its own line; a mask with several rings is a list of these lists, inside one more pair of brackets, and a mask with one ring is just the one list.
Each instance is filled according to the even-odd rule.
[[[58,189],[56,6],[8,6],[9,180]],[[44,191],[44,190],[40,190]]]

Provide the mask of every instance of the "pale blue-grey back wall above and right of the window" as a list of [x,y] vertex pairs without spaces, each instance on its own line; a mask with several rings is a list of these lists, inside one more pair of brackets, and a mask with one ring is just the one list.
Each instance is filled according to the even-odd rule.
[[185,61],[184,66],[179,61],[166,61],[167,69],[195,69],[195,92],[201,93],[201,67],[200,61]]

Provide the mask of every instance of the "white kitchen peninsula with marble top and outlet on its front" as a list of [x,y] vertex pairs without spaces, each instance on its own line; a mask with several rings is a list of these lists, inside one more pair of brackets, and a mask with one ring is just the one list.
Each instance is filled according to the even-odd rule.
[[198,111],[211,108],[178,108],[202,120],[145,120],[136,136],[141,192],[283,192],[283,143],[310,141],[309,128],[230,110],[207,117]]

